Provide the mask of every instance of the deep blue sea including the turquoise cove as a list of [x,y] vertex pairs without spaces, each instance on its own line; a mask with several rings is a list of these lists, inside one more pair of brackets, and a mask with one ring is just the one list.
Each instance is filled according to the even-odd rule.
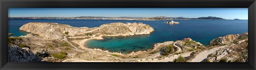
[[177,25],[165,24],[165,21],[122,21],[122,20],[79,20],[79,19],[9,19],[9,33],[13,36],[26,35],[19,31],[19,27],[29,22],[52,22],[68,24],[75,27],[98,27],[102,24],[123,22],[139,23],[152,26],[155,31],[149,35],[129,37],[104,37],[105,40],[91,40],[86,46],[101,48],[113,52],[131,52],[153,48],[154,43],[176,41],[190,37],[196,42],[208,45],[219,36],[228,34],[242,34],[248,32],[247,20],[175,20]]

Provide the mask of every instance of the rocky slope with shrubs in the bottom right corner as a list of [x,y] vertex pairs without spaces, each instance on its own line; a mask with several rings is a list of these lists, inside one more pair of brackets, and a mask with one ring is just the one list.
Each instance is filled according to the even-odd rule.
[[[214,41],[217,40],[218,41]],[[205,62],[247,62],[248,58],[248,33],[241,35],[227,35],[213,39],[215,44],[219,46],[226,44],[227,47],[221,48],[218,51],[207,56]]]

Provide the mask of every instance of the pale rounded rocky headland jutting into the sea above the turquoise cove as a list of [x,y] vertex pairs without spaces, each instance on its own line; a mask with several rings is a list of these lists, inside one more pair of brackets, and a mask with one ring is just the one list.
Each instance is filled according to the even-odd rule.
[[142,24],[142,23],[110,23],[110,24],[103,24],[100,27],[99,31],[92,32],[93,34],[102,34],[102,35],[109,35],[109,36],[132,36],[132,35],[144,35],[150,34],[154,31],[154,28]]

